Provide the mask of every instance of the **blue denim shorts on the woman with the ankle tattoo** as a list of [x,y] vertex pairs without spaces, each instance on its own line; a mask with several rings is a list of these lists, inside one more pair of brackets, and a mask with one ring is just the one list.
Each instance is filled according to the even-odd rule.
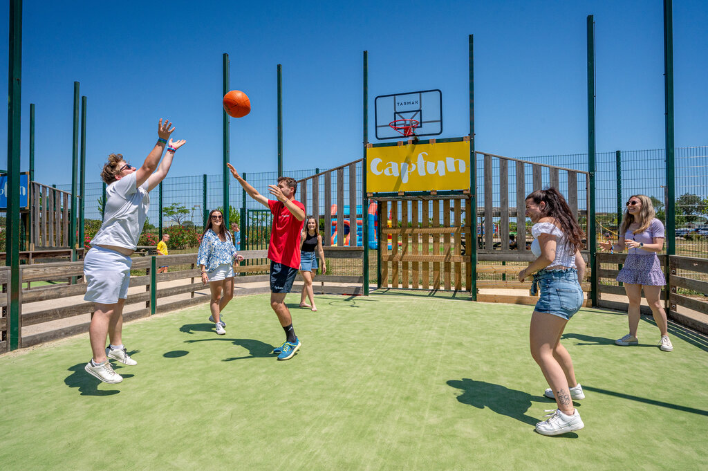
[[541,295],[535,311],[570,319],[583,305],[583,288],[578,283],[578,271],[541,270],[534,275]]

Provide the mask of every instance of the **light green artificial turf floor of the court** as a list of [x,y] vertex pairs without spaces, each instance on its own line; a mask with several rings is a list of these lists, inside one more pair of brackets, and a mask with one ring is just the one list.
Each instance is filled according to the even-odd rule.
[[227,334],[202,305],[126,324],[137,366],[84,372],[88,336],[0,357],[2,470],[706,470],[708,341],[674,351],[627,317],[581,310],[566,328],[586,428],[540,436],[554,402],[528,351],[532,307],[406,295],[237,297]]

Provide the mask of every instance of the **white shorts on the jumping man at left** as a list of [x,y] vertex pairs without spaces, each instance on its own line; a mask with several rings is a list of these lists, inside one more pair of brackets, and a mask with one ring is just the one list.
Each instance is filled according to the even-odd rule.
[[95,246],[84,258],[84,301],[115,304],[128,297],[132,259],[115,250]]

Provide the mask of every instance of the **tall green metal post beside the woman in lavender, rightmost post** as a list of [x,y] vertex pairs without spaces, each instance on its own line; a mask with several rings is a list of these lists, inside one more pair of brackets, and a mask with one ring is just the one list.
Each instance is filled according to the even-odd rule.
[[[666,107],[666,253],[676,254],[676,189],[673,142],[673,4],[664,0],[664,101]],[[668,271],[668,263],[666,263]],[[668,279],[668,278],[667,278]]]

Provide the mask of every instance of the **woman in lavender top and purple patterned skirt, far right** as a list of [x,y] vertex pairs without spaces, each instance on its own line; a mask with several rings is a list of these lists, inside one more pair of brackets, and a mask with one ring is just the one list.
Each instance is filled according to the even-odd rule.
[[609,251],[629,249],[624,266],[617,275],[617,281],[624,283],[624,290],[629,297],[629,334],[617,339],[615,344],[627,346],[637,345],[639,340],[636,329],[639,326],[639,305],[641,290],[644,290],[646,302],[651,307],[656,326],[661,331],[661,341],[658,347],[662,351],[672,351],[673,346],[668,338],[666,311],[661,303],[661,287],[666,285],[661,271],[657,252],[663,249],[665,234],[661,221],[654,217],[655,212],[651,199],[646,195],[632,195],[627,201],[622,225],[619,226],[619,242],[600,242],[600,246]]

